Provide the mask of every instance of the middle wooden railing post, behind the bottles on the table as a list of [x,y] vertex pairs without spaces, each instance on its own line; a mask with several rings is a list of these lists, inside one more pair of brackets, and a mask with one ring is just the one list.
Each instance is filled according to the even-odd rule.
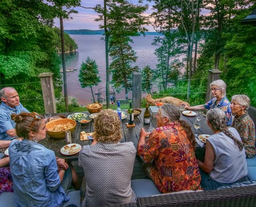
[[140,72],[134,72],[132,74],[132,105],[134,109],[141,108],[141,85],[142,75]]

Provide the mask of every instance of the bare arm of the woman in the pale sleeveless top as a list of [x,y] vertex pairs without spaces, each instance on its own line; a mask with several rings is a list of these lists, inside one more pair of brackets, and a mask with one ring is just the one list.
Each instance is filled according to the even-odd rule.
[[206,140],[204,162],[197,160],[198,167],[201,168],[203,171],[209,173],[213,169],[214,159],[215,153],[213,147],[211,143],[208,140]]

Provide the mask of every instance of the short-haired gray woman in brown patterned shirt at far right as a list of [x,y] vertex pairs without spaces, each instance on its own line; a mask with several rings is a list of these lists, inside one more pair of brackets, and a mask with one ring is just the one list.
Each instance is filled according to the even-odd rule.
[[250,98],[246,95],[234,95],[231,98],[231,110],[235,114],[232,126],[242,138],[247,158],[253,158],[255,149],[255,126],[247,110]]

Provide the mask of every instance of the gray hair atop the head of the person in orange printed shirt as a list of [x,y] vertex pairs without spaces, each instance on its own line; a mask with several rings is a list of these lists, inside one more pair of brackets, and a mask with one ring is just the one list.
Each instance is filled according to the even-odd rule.
[[164,104],[159,107],[162,116],[167,117],[170,121],[178,121],[180,119],[180,110],[173,104]]

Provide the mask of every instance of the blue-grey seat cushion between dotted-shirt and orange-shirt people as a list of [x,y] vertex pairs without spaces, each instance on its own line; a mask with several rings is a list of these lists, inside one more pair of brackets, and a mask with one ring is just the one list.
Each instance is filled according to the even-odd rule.
[[151,195],[161,194],[150,179],[135,179],[131,181],[131,187],[138,197],[147,197]]

